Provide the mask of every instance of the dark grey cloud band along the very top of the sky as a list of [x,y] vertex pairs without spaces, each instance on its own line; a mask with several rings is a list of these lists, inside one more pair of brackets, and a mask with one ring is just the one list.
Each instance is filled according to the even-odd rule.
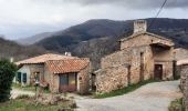
[[[164,0],[36,0],[56,4],[79,3],[82,6],[111,4],[128,9],[155,9],[160,8]],[[188,0],[168,0],[165,8],[188,8]]]

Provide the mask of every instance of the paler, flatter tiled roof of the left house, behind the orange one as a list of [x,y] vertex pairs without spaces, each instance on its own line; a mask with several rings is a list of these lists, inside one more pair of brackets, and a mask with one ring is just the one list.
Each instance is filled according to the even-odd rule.
[[44,63],[45,61],[49,60],[62,60],[62,59],[75,59],[77,57],[71,57],[71,56],[61,56],[61,54],[53,54],[53,53],[48,53],[48,54],[42,54],[34,58],[25,59],[19,62],[15,62],[15,64],[35,64],[35,63]]

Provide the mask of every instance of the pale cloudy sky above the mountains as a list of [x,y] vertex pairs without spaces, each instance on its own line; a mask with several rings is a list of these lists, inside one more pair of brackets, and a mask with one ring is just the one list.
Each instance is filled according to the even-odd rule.
[[[90,19],[154,18],[164,0],[0,0],[0,36],[15,40]],[[188,0],[168,0],[159,18],[188,19]]]

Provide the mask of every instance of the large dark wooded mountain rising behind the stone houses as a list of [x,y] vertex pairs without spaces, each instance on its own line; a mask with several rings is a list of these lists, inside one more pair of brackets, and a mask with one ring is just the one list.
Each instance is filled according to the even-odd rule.
[[[186,19],[146,19],[148,31],[161,34],[175,41],[176,47],[188,48],[188,20]],[[64,53],[70,51],[74,56],[91,58],[95,69],[100,68],[100,59],[118,50],[118,40],[133,32],[134,20],[88,20],[66,30],[54,32],[34,46],[50,51]]]

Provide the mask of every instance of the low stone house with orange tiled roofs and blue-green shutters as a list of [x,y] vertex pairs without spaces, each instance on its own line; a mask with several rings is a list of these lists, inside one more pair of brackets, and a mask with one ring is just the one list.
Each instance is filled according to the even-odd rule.
[[43,54],[17,62],[14,82],[33,85],[36,81],[53,92],[87,93],[91,64],[87,58]]

